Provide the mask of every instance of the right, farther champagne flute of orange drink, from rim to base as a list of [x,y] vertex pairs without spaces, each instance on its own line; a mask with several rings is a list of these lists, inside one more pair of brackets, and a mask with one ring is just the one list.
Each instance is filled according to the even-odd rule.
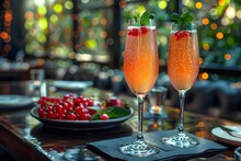
[[187,148],[198,145],[198,140],[184,131],[185,93],[194,84],[199,70],[197,31],[194,23],[172,23],[169,42],[168,74],[180,95],[180,123],[177,134],[162,140],[174,147]]

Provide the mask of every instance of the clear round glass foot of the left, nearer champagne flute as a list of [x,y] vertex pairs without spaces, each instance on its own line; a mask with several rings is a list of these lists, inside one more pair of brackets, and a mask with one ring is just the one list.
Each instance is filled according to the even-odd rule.
[[144,140],[136,140],[129,145],[123,145],[119,147],[122,153],[135,156],[135,157],[148,157],[159,153],[159,148],[147,143]]

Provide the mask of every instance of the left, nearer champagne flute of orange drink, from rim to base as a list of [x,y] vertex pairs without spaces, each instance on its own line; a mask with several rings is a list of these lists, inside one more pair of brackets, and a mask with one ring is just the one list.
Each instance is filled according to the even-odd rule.
[[159,72],[157,31],[154,21],[147,26],[138,26],[129,21],[124,53],[124,72],[130,91],[138,100],[138,134],[134,142],[123,145],[125,154],[148,157],[159,152],[159,148],[147,143],[142,135],[144,99],[153,88]]

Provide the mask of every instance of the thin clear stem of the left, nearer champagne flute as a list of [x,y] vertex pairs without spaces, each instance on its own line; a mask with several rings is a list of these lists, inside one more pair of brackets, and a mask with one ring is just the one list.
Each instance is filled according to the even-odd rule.
[[138,140],[144,140],[144,134],[142,134],[144,97],[145,97],[145,95],[142,95],[142,94],[137,95],[137,100],[138,100],[138,134],[137,134],[137,139]]

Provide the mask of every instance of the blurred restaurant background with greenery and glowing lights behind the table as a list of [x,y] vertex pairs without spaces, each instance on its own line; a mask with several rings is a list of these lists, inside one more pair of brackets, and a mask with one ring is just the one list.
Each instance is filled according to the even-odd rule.
[[167,76],[172,12],[191,11],[198,26],[200,72],[187,92],[187,111],[241,123],[240,0],[0,0],[0,80],[93,80],[130,94],[122,71],[126,22],[151,11],[158,27],[160,76],[169,105],[179,106]]

